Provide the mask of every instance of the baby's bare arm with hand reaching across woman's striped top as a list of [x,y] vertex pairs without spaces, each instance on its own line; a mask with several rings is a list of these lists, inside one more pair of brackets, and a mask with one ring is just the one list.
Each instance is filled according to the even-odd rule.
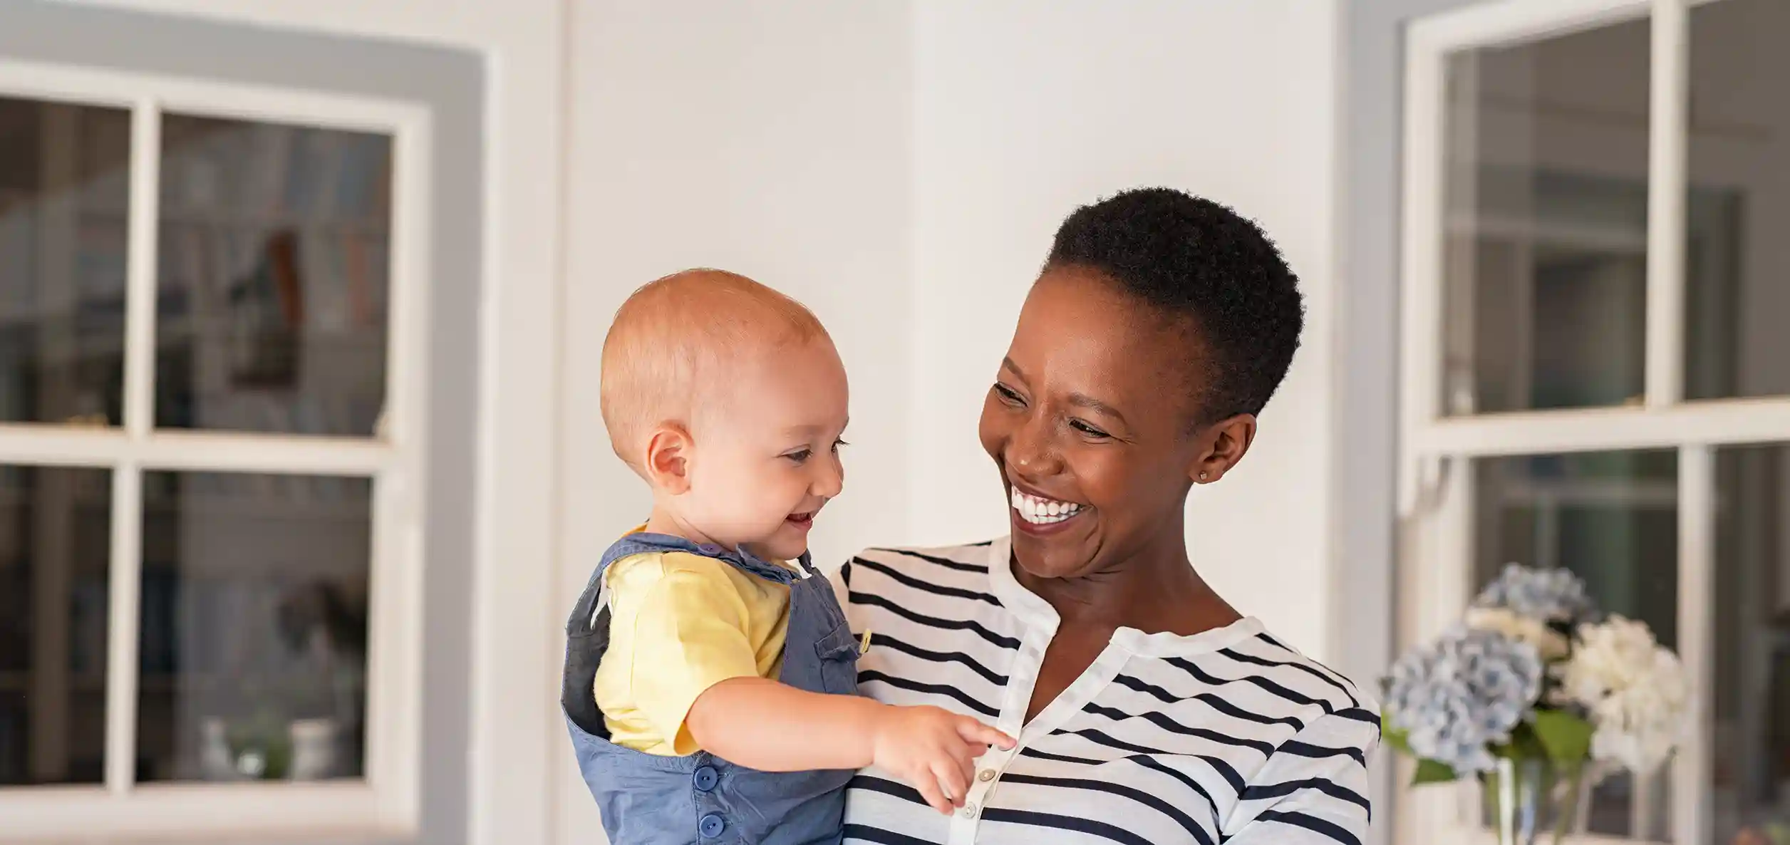
[[1013,739],[938,707],[891,707],[852,695],[806,693],[766,679],[730,679],[684,720],[703,750],[764,772],[877,764],[940,813],[968,795],[976,757]]

